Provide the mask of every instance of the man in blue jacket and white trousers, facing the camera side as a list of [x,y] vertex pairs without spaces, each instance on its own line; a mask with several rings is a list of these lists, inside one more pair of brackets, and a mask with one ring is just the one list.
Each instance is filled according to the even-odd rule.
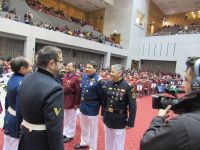
[[82,76],[82,90],[80,102],[81,142],[75,149],[97,149],[98,114],[103,99],[102,80],[96,73],[95,62],[90,61]]

